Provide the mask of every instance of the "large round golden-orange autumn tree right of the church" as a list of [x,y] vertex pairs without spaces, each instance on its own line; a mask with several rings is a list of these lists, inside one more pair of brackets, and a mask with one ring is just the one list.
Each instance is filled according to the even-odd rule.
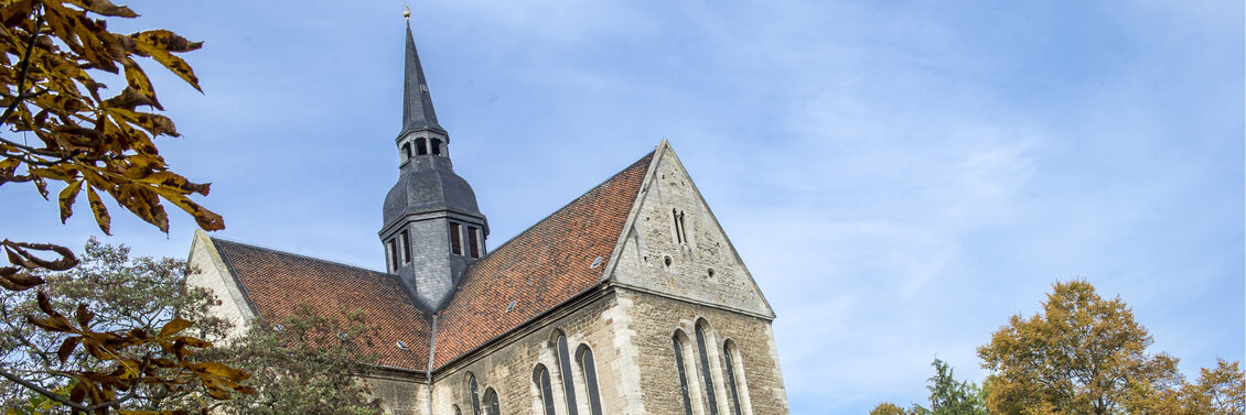
[[1055,283],[1042,313],[1013,316],[978,348],[993,373],[987,405],[993,414],[1120,414],[1182,383],[1177,359],[1149,354],[1150,344],[1120,297],[1104,299],[1085,281]]

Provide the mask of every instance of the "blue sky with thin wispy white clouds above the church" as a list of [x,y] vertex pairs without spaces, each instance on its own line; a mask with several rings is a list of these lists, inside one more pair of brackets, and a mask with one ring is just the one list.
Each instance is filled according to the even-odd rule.
[[[383,267],[397,1],[131,1],[203,94],[156,87],[218,235]],[[668,138],[779,318],[794,414],[925,401],[1055,281],[1120,297],[1181,369],[1241,360],[1241,1],[419,1],[460,175],[500,244]],[[155,66],[148,73],[156,75]],[[80,246],[6,185],[4,236]],[[85,206],[85,205],[83,205]],[[184,257],[132,216],[115,236]]]

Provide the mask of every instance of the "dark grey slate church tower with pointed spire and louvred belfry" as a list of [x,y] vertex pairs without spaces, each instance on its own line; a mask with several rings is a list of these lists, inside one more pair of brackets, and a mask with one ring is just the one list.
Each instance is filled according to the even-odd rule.
[[402,129],[395,138],[399,178],[385,196],[386,271],[399,275],[416,307],[450,301],[467,265],[485,255],[488,222],[467,180],[450,163],[450,134],[437,123],[420,56],[406,26]]

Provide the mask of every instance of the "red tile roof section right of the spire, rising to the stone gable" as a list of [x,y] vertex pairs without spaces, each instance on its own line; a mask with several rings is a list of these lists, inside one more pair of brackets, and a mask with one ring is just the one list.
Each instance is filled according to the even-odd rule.
[[[653,153],[472,263],[441,311],[434,365],[597,286],[650,160]],[[601,266],[589,268],[597,257]]]

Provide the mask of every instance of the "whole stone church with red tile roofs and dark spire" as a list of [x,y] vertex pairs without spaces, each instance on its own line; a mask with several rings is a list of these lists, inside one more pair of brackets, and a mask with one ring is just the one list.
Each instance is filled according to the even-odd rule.
[[364,311],[386,414],[789,413],[774,311],[669,143],[491,247],[410,25],[405,66],[386,268],[198,231],[188,283],[217,294],[216,314],[242,332],[300,303]]

